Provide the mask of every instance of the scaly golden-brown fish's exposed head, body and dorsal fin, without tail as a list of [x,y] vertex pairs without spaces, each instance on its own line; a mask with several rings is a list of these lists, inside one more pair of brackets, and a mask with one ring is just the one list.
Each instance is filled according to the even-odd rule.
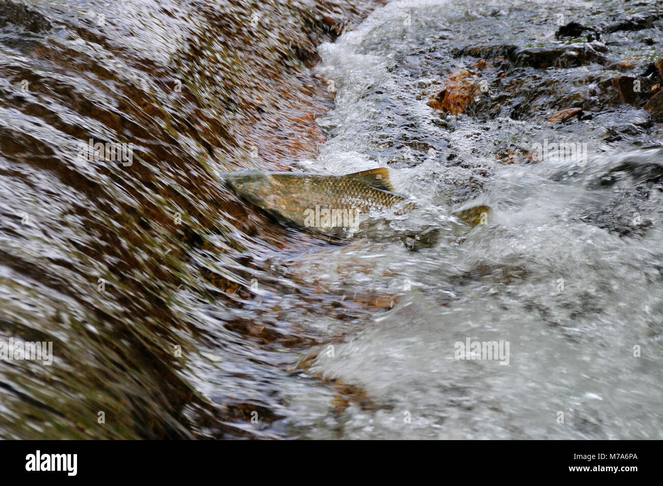
[[414,209],[394,192],[387,168],[345,175],[245,170],[226,174],[225,182],[278,219],[323,233],[356,227],[362,213]]

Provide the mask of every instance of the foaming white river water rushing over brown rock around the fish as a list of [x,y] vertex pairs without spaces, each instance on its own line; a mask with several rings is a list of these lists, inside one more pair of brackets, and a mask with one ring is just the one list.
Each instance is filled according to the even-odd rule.
[[[609,62],[457,51],[654,3],[549,4],[393,1],[358,24],[371,7],[340,1],[33,1],[0,23],[0,339],[54,354],[0,363],[1,436],[661,438],[660,119],[615,98]],[[605,56],[653,62],[662,22],[602,34]],[[463,69],[487,91],[436,111]],[[81,160],[90,138],[131,164]],[[528,156],[560,142],[586,152]],[[331,245],[219,182],[286,166],[388,166],[418,209]],[[487,222],[458,233],[474,203]],[[467,339],[509,354],[456,359]]]

